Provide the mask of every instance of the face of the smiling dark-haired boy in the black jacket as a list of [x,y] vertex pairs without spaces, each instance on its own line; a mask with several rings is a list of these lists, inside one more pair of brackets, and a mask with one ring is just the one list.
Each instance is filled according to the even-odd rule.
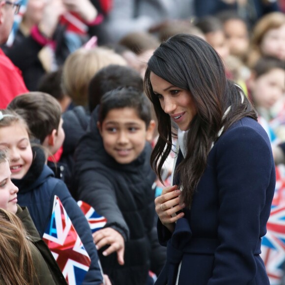
[[153,131],[151,124],[146,127],[133,108],[110,110],[102,124],[97,125],[106,152],[120,164],[136,160]]

